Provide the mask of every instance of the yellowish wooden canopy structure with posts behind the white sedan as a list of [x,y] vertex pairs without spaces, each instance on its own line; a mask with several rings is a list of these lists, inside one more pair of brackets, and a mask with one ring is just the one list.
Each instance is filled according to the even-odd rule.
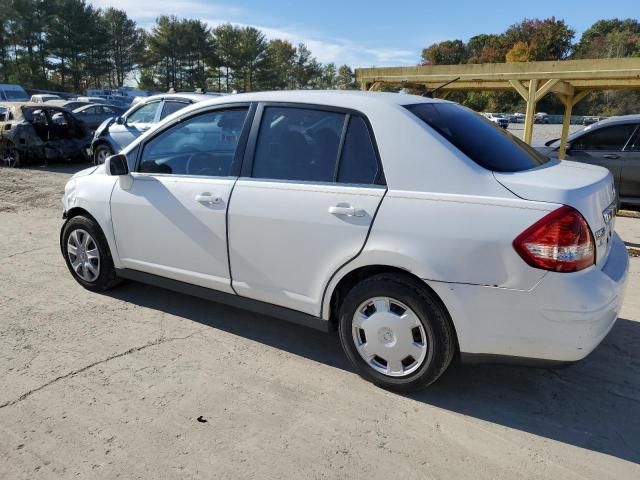
[[533,135],[536,104],[552,93],[564,105],[560,158],[565,156],[571,111],[576,103],[596,90],[640,89],[640,58],[358,68],[355,73],[363,90],[379,83],[423,85],[433,90],[447,82],[451,83],[439,91],[515,90],[527,103],[527,143],[531,143]]

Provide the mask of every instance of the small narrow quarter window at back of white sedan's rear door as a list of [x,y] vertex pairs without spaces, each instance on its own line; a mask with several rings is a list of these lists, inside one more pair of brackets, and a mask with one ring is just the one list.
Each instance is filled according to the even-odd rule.
[[340,183],[375,183],[378,160],[371,136],[361,117],[351,117],[338,168]]

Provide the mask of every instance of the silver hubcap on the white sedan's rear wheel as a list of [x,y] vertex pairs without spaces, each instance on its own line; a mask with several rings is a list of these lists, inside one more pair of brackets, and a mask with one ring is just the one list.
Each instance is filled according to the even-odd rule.
[[353,316],[352,334],[362,359],[389,377],[410,375],[427,357],[422,322],[413,310],[390,297],[374,297],[361,303]]

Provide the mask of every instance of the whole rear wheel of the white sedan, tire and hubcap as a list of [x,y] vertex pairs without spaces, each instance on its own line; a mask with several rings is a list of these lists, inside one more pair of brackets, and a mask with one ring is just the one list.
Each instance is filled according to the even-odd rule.
[[449,315],[426,286],[401,274],[368,278],[340,308],[340,342],[357,372],[380,387],[417,390],[435,382],[456,349]]

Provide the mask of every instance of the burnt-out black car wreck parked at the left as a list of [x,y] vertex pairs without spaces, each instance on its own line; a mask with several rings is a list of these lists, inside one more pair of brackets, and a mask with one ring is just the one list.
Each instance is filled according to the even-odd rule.
[[0,162],[21,167],[30,160],[85,159],[89,129],[71,112],[47,103],[5,103],[0,122]]

